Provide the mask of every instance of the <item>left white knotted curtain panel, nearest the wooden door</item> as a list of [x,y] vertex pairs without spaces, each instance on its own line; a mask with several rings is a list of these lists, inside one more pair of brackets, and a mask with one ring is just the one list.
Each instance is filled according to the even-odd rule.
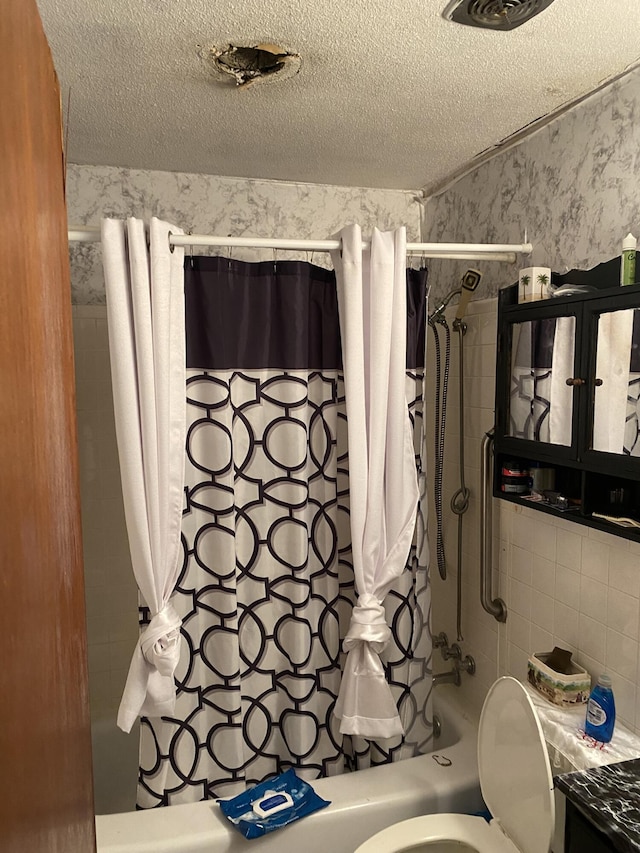
[[151,611],[118,711],[131,730],[138,716],[171,714],[180,653],[180,618],[170,597],[180,565],[184,486],[184,249],[180,229],[151,220],[150,248],[139,219],[102,222],[116,436],[135,578]]

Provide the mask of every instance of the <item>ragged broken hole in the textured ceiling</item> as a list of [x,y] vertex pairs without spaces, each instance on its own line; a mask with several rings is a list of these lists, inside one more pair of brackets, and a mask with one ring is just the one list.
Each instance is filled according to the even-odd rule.
[[[202,55],[202,54],[201,54]],[[302,60],[277,44],[241,47],[235,44],[212,48],[204,58],[219,82],[246,87],[265,80],[282,80],[300,71]]]

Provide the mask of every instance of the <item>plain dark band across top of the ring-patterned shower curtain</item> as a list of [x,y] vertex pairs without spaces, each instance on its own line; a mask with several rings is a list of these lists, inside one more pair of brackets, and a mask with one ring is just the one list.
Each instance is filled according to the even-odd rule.
[[[407,367],[424,366],[427,270],[407,270]],[[333,270],[305,261],[185,258],[187,367],[339,370]]]

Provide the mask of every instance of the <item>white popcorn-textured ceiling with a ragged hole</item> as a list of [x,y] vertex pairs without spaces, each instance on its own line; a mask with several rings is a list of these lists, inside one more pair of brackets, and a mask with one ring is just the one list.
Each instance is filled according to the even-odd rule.
[[[511,32],[445,0],[39,0],[73,163],[418,189],[640,58],[639,0],[555,0]],[[290,79],[201,52],[275,42]]]

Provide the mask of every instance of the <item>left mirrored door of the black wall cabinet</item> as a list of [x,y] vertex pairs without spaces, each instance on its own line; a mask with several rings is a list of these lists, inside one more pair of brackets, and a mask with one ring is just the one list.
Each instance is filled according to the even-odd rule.
[[508,435],[571,445],[576,318],[514,323]]

